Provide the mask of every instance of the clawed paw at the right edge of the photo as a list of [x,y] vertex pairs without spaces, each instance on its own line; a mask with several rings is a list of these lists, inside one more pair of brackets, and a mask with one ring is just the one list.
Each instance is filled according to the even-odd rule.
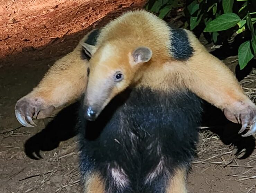
[[234,123],[241,123],[242,128],[238,133],[242,133],[246,128],[249,131],[243,134],[243,137],[250,136],[256,132],[256,106],[253,103],[240,103],[229,109],[225,108],[224,114],[228,120]]

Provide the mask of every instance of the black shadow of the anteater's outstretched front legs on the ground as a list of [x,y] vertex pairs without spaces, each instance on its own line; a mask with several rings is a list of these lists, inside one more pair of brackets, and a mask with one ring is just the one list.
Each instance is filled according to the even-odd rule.
[[[25,143],[26,155],[31,159],[40,159],[40,151],[51,151],[57,148],[61,141],[76,136],[78,109],[79,102],[68,106],[48,123],[45,129],[29,138]],[[255,149],[255,138],[238,134],[241,125],[228,121],[222,111],[211,104],[205,102],[204,109],[202,126],[209,126],[208,130],[217,134],[224,144],[235,145],[237,154],[245,149],[240,159],[250,156]]]

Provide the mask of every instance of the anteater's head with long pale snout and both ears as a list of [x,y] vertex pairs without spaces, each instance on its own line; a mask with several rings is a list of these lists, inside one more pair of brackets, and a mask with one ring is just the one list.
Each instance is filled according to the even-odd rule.
[[118,93],[138,81],[139,71],[152,57],[148,47],[122,47],[118,42],[95,47],[83,43],[91,57],[88,84],[83,101],[86,119],[95,120],[105,106]]

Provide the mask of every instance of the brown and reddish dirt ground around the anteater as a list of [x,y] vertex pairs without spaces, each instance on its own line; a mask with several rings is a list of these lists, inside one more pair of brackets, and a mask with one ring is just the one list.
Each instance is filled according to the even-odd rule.
[[[73,113],[76,104],[55,119],[38,121],[36,128],[20,126],[14,106],[89,29],[127,9],[143,6],[144,1],[7,0],[0,4],[0,192],[81,192]],[[217,56],[228,53],[226,48],[206,47]],[[220,58],[237,71],[236,54]],[[249,74],[250,70],[240,72],[238,79],[255,102],[256,75]],[[212,106],[205,106],[204,117],[203,126],[210,128],[200,130],[188,192],[255,193],[255,138],[240,137],[240,126],[226,121]]]

